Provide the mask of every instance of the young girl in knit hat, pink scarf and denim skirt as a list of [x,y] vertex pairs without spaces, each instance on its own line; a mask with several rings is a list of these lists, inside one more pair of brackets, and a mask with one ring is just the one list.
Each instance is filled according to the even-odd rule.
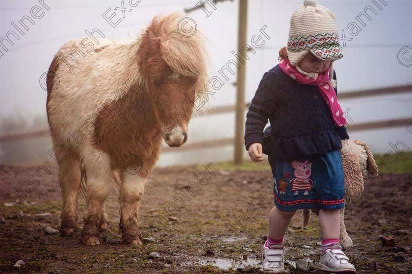
[[[343,57],[333,13],[305,0],[290,19],[279,64],[265,72],[246,119],[253,161],[269,156],[275,207],[263,246],[263,270],[284,272],[283,235],[297,209],[317,208],[322,230],[319,269],[356,273],[339,245],[344,203],[341,139],[349,138],[336,97],[334,60]],[[263,128],[270,121],[264,133]]]

